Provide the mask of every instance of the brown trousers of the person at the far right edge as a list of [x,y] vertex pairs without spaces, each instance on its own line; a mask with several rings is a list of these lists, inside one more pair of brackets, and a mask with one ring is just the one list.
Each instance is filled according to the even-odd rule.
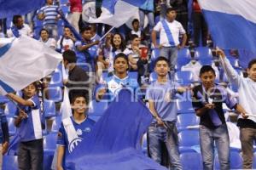
[[253,141],[256,141],[255,128],[240,129],[241,152],[242,152],[242,168],[252,169],[253,167]]

